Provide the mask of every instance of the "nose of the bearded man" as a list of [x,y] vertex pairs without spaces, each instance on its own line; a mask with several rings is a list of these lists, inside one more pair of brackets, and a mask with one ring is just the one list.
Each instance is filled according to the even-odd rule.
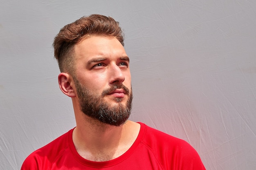
[[110,73],[110,83],[111,84],[121,84],[124,82],[125,76],[123,71],[116,64],[112,64],[109,70]]

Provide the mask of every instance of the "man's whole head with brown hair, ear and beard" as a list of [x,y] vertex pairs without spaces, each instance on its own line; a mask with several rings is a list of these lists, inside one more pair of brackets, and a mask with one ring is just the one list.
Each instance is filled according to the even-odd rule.
[[102,15],[64,26],[54,40],[63,93],[72,97],[74,108],[114,126],[124,124],[132,105],[129,57],[123,40],[118,22]]

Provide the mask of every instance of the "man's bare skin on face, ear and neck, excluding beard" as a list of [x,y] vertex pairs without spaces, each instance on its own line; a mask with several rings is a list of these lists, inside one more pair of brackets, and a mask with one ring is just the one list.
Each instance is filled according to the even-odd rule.
[[[76,77],[91,93],[101,95],[113,85],[124,85],[131,91],[129,57],[115,37],[91,36],[74,46]],[[72,75],[60,73],[61,91],[72,97],[76,118],[73,142],[77,152],[91,161],[108,161],[124,154],[139,134],[140,125],[126,121],[111,126],[92,119],[81,112]],[[117,100],[121,99],[121,100]],[[111,106],[125,105],[128,95],[117,89],[104,96]]]

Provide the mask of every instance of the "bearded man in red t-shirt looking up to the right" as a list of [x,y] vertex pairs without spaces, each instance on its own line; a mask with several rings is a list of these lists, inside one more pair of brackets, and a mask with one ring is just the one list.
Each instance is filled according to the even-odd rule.
[[186,141],[128,120],[131,75],[118,22],[82,17],[53,46],[76,127],[29,155],[21,170],[205,170]]

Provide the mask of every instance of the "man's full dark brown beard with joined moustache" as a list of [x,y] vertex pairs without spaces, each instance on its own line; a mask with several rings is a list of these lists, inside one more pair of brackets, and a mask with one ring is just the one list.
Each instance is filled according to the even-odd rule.
[[[120,126],[124,124],[130,117],[132,108],[132,89],[129,89],[124,85],[114,85],[108,89],[103,90],[101,95],[92,94],[87,88],[85,88],[78,79],[74,78],[76,86],[76,93],[79,100],[80,110],[91,117],[92,119],[99,120],[105,124],[113,126]],[[104,97],[115,89],[124,89],[128,100],[126,104],[122,104],[122,98],[115,97],[117,102],[114,106],[111,106]]]

